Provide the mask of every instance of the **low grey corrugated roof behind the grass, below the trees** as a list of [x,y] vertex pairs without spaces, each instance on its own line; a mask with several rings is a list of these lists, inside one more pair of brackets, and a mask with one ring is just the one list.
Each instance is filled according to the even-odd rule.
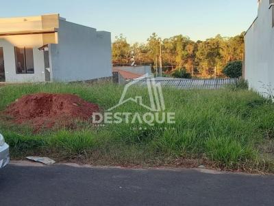
[[[185,79],[185,78],[170,78],[162,79],[155,78],[156,83],[161,83],[162,87],[175,87],[177,89],[221,89],[225,85],[236,83],[237,78],[211,78],[211,79]],[[135,85],[145,86],[146,79],[135,80]]]

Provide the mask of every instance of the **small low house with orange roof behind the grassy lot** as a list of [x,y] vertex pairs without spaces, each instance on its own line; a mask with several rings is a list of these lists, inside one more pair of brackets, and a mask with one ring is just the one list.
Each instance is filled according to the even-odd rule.
[[140,66],[115,66],[112,68],[114,82],[125,84],[134,78],[140,78],[145,74],[151,75],[151,65]]

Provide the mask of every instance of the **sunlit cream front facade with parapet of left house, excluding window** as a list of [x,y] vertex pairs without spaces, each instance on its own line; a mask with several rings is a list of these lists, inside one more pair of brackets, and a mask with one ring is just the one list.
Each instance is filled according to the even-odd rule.
[[[59,27],[59,18],[59,14],[0,18],[0,47],[3,48],[5,82],[45,81],[44,53],[38,48],[45,44],[58,43],[58,33],[55,29]],[[32,50],[33,74],[16,73],[15,47]],[[25,65],[32,65],[32,62],[25,61]]]

